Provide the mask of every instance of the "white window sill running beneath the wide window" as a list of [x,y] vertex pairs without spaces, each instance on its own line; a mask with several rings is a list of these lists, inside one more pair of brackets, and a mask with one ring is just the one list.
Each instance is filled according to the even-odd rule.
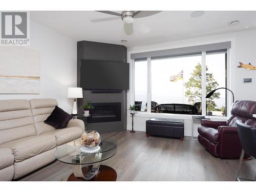
[[[128,114],[129,116],[132,116]],[[147,113],[147,112],[136,112],[135,117],[147,117],[147,118],[169,118],[169,119],[183,119],[192,120],[192,117],[199,117],[201,115],[185,115],[185,114],[168,114],[168,113]],[[228,117],[222,116],[205,116],[211,120],[227,120]]]

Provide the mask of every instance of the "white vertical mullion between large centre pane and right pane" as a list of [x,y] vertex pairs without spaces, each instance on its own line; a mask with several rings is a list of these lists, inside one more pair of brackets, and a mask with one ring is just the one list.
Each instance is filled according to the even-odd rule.
[[206,115],[206,52],[202,51],[202,115]]

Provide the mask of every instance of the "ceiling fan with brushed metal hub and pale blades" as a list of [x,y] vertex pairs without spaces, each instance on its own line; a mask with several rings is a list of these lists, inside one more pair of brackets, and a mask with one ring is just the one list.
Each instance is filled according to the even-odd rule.
[[[100,18],[100,19],[93,19],[91,22],[106,22],[109,20],[116,20],[116,19],[122,19],[123,20],[123,29],[126,35],[132,35],[133,34],[133,22],[135,18],[142,18],[142,17],[148,17],[151,15],[155,15],[161,11],[122,11],[121,13],[114,12],[114,11],[97,11],[105,14],[115,15],[115,17],[107,17],[107,18]],[[118,16],[118,17],[116,17]],[[144,26],[143,24],[140,24],[140,26],[137,26],[141,32],[148,32],[150,29],[148,27]]]

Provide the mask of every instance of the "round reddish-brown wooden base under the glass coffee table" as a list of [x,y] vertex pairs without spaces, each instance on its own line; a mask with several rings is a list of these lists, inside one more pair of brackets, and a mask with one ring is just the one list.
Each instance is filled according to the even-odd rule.
[[69,176],[68,181],[116,181],[117,178],[115,169],[106,165],[95,163],[85,167],[81,165],[72,165],[72,167],[74,173]]

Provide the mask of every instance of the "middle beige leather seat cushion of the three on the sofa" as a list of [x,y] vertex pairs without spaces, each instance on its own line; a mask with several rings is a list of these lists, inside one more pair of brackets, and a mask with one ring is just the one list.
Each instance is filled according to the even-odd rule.
[[56,139],[52,135],[37,135],[10,141],[0,147],[11,148],[14,161],[19,162],[56,147]]

